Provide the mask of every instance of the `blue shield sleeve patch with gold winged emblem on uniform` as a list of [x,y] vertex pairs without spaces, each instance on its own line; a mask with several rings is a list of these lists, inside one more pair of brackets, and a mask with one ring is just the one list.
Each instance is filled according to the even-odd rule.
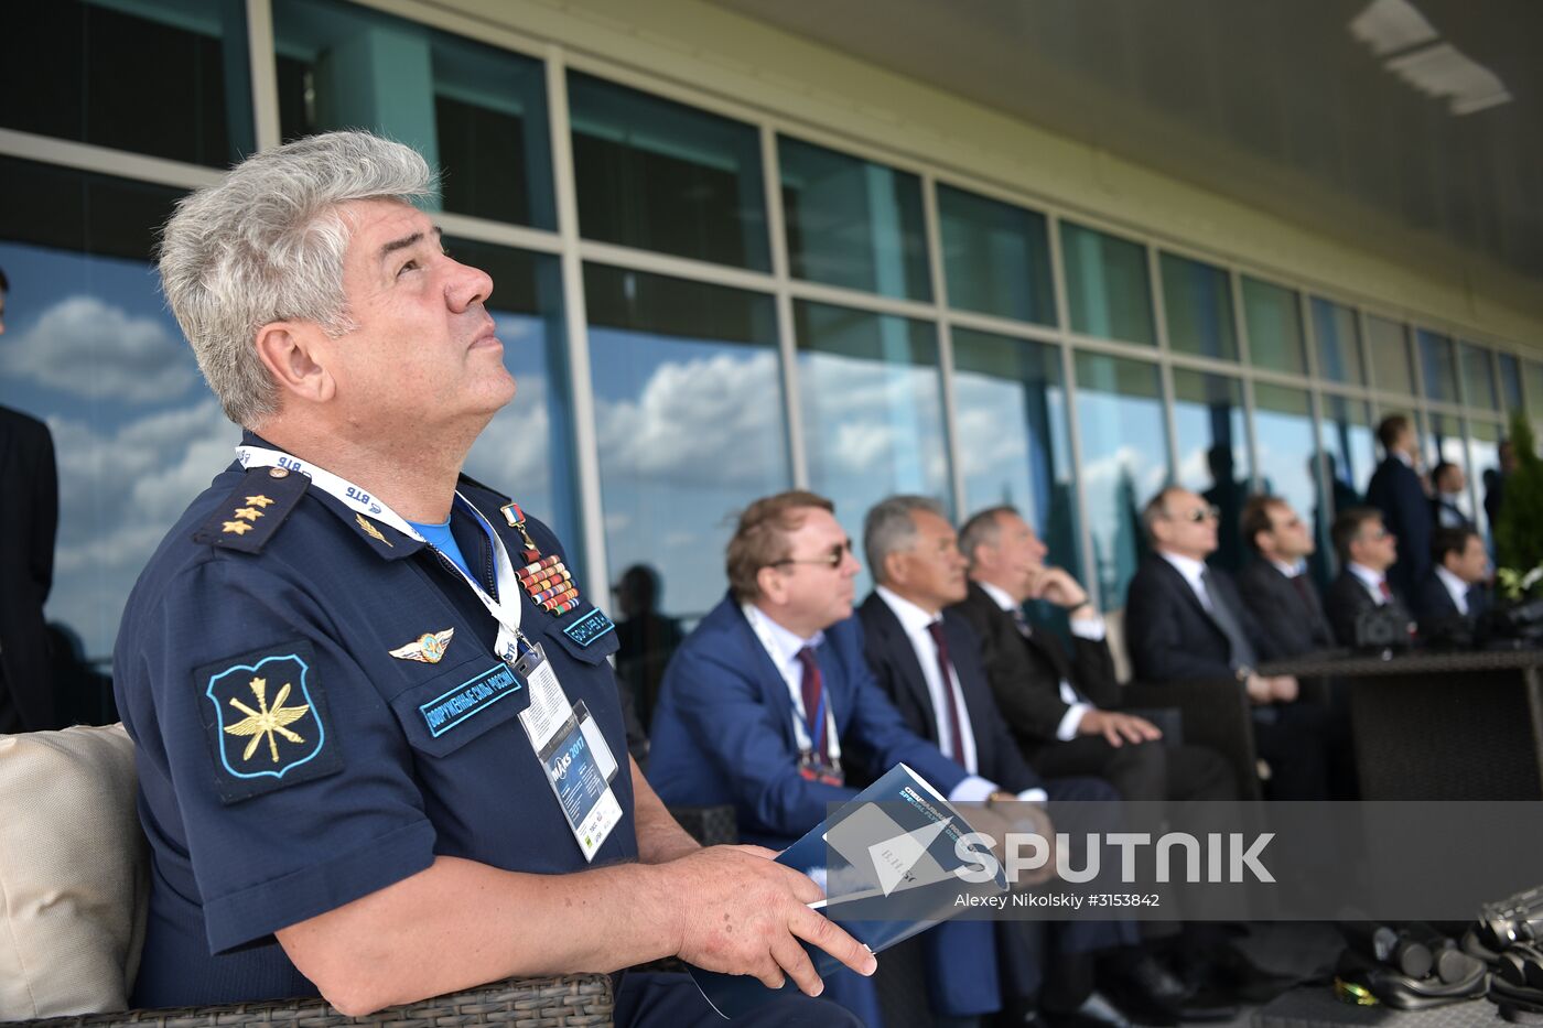
[[316,661],[281,644],[193,671],[222,803],[330,775],[343,767]]

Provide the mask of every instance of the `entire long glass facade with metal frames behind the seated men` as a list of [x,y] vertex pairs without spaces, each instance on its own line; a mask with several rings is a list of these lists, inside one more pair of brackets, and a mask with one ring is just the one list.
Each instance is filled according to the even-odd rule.
[[247,6],[59,0],[0,31],[0,403],[54,432],[48,614],[99,661],[236,438],[156,292],[154,230],[259,140],[343,125],[443,170],[447,244],[497,282],[518,395],[468,471],[549,522],[589,591],[648,563],[687,621],[722,594],[727,519],[795,483],[853,539],[895,491],[1011,502],[1114,610],[1170,480],[1278,491],[1327,550],[1376,417],[1413,414],[1427,455],[1478,478],[1480,517],[1497,412],[1543,423],[1537,349],[1369,310],[1355,282],[1329,299],[957,164],[799,139],[454,5],[264,0],[272,36]]

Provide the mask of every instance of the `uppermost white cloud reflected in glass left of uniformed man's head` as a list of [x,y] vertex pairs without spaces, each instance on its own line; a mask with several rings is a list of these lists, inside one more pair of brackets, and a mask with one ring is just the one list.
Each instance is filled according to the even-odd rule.
[[162,318],[139,318],[97,296],[68,296],[0,349],[6,375],[82,397],[171,400],[198,378],[185,344]]

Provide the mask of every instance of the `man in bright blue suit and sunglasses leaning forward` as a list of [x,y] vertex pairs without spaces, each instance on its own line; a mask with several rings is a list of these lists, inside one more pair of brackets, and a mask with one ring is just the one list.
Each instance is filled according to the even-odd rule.
[[[876,776],[904,761],[955,798],[969,778],[873,682],[852,617],[859,565],[832,511],[801,491],[745,508],[728,543],[730,593],[676,650],[654,713],[648,779],[660,798],[731,804],[741,837],[772,849],[858,793],[846,781],[853,763]],[[989,942],[989,926],[974,932]],[[989,945],[940,972],[997,996]],[[841,971],[826,996],[880,1023],[867,979]]]

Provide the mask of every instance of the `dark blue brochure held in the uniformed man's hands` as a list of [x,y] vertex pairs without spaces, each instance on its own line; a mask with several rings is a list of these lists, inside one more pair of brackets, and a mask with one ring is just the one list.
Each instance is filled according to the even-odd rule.
[[[954,872],[978,863],[955,852],[972,832],[958,810],[920,775],[896,764],[846,806],[778,855],[826,889],[813,905],[875,954],[952,917],[960,895],[1008,891],[998,869],[994,881],[969,883]],[[841,963],[804,943],[815,971],[827,977]],[[690,966],[690,965],[688,965]],[[724,1017],[739,1017],[781,994],[796,992],[792,979],[768,989],[744,974],[690,968],[702,996]]]

